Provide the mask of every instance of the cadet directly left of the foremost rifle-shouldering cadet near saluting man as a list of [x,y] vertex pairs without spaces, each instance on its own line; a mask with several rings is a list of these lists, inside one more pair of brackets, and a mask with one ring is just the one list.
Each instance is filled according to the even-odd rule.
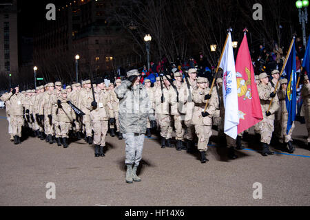
[[92,85],[90,80],[85,81],[85,89],[82,89],[81,94],[79,96],[79,106],[78,108],[85,113],[83,115],[83,124],[85,126],[86,132],[86,142],[88,144],[92,144],[92,124],[90,120],[90,111],[92,111],[92,102],[94,101],[92,97]]

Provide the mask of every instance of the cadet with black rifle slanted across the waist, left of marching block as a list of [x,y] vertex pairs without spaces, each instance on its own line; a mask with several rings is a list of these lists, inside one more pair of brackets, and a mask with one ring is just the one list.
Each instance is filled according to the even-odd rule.
[[58,97],[57,104],[53,109],[53,115],[56,115],[55,118],[59,126],[59,135],[57,138],[58,146],[61,146],[61,138],[63,140],[63,148],[68,148],[68,137],[69,131],[72,128],[72,122],[74,122],[74,111],[67,103],[67,91],[66,89],[61,90],[61,96]]

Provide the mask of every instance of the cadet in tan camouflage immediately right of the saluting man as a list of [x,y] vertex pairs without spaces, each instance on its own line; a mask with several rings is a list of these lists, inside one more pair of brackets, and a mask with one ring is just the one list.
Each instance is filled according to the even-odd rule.
[[172,115],[170,115],[169,100],[171,98],[173,89],[167,80],[167,77],[163,76],[163,89],[156,89],[156,96],[154,98],[156,104],[156,111],[158,113],[158,121],[161,126],[161,148],[172,147]]

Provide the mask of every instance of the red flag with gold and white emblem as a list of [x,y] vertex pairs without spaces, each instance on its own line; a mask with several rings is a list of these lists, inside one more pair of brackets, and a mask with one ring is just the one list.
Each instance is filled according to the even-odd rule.
[[243,37],[238,51],[236,76],[239,105],[238,133],[241,133],[262,120],[262,109],[247,44],[247,34]]

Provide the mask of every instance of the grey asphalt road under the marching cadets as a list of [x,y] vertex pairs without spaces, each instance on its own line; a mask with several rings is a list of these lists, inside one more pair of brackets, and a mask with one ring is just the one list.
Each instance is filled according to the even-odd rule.
[[[142,181],[125,183],[124,140],[107,136],[105,157],[94,157],[94,146],[83,140],[69,148],[29,137],[15,146],[8,121],[0,110],[0,206],[309,206],[310,151],[307,129],[296,122],[296,151],[289,155],[271,146],[275,155],[262,157],[253,137],[238,159],[229,160],[226,148],[209,143],[209,162],[198,155],[164,148],[154,136],[145,139]],[[56,199],[47,199],[55,184]],[[259,195],[260,183],[262,199]],[[254,192],[255,190],[255,192]]]

